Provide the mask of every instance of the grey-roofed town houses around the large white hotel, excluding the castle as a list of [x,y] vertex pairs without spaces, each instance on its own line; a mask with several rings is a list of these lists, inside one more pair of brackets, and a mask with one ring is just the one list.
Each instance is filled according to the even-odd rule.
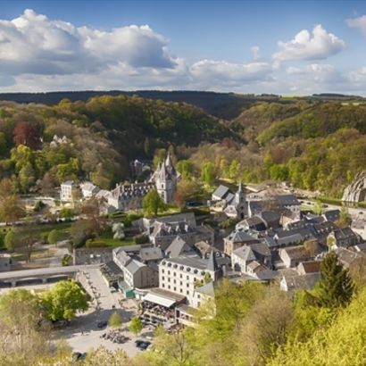
[[311,289],[329,250],[337,252],[346,268],[362,261],[366,252],[360,235],[337,226],[338,210],[301,212],[294,195],[266,202],[263,196],[246,195],[242,185],[236,193],[219,187],[212,194],[213,211],[219,198],[224,201],[221,211],[237,218],[235,229],[222,238],[221,250],[220,233],[197,225],[193,212],[137,220],[134,226],[149,243],[111,249],[106,265],[123,294],[141,300],[147,322],[193,325],[195,309],[214,299],[222,277],[275,283],[284,291]]

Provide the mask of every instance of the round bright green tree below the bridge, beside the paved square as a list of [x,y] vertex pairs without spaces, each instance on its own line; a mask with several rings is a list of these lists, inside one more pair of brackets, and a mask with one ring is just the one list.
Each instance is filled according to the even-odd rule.
[[87,295],[74,279],[60,281],[41,295],[49,320],[71,320],[87,311]]

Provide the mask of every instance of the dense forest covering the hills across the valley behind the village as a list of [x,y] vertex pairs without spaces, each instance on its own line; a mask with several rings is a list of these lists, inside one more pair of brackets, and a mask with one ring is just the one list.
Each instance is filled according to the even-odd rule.
[[[218,107],[216,94],[213,102],[208,95],[197,92],[197,104]],[[221,102],[237,108],[228,96]],[[132,159],[157,162],[169,149],[187,179],[210,171],[210,184],[217,178],[287,180],[339,197],[365,166],[366,105],[272,99],[241,104],[242,112],[230,121],[184,102],[140,96],[62,99],[54,105],[3,101],[0,177],[12,179],[19,193],[51,192],[65,179],[109,188],[129,179]]]

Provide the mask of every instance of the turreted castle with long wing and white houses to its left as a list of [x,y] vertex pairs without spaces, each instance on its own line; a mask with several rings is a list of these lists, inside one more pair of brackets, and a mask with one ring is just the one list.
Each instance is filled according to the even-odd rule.
[[[137,161],[133,162],[133,168],[135,174],[144,168],[146,171],[146,165]],[[156,188],[166,204],[171,204],[179,179],[180,173],[174,168],[171,154],[168,154],[165,161],[159,164],[150,179],[145,182],[118,184],[112,190],[104,190],[91,182],[77,184],[73,180],[67,180],[61,185],[60,199],[62,203],[72,204],[79,199],[96,197],[101,203],[101,213],[137,210],[142,207],[142,201],[152,187]]]

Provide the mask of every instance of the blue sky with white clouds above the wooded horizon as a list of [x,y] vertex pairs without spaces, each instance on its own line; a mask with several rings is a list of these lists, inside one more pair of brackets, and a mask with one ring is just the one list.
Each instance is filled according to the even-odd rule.
[[0,1],[0,92],[366,96],[366,2]]

